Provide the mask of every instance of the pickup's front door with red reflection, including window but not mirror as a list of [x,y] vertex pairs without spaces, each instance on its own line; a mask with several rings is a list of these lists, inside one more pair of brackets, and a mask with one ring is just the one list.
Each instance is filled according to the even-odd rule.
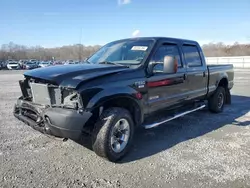
[[[163,72],[163,59],[166,55],[174,56],[177,59],[177,73],[166,74]],[[159,64],[154,66],[154,74],[147,79],[149,113],[185,101],[188,92],[184,76],[186,68],[183,66],[177,44],[165,42],[159,44],[150,62],[152,61]]]

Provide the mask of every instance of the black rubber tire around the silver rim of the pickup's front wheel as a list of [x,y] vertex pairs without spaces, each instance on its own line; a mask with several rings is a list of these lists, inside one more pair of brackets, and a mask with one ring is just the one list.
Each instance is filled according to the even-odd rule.
[[[130,133],[125,148],[120,152],[115,152],[111,144],[112,130],[116,123],[122,119],[128,122]],[[98,156],[116,162],[122,159],[129,151],[133,141],[133,135],[134,122],[130,112],[123,108],[112,107],[103,111],[94,126],[92,133],[92,148]]]

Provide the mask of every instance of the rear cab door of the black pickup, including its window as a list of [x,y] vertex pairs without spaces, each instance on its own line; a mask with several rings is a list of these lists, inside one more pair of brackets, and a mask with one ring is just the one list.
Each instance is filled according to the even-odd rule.
[[208,71],[202,59],[202,51],[195,43],[184,43],[182,51],[187,66],[188,100],[203,97],[207,93]]

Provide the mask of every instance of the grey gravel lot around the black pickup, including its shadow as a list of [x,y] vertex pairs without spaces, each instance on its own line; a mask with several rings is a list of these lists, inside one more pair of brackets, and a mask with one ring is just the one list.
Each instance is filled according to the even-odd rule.
[[237,71],[232,105],[138,133],[119,164],[20,123],[18,71],[0,72],[0,187],[250,187],[250,70]]

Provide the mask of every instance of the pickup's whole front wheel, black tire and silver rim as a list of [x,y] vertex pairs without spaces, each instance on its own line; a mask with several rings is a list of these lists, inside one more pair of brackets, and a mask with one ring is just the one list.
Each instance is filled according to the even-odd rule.
[[134,135],[134,123],[128,110],[105,110],[94,126],[92,148],[98,156],[115,162],[128,152]]

